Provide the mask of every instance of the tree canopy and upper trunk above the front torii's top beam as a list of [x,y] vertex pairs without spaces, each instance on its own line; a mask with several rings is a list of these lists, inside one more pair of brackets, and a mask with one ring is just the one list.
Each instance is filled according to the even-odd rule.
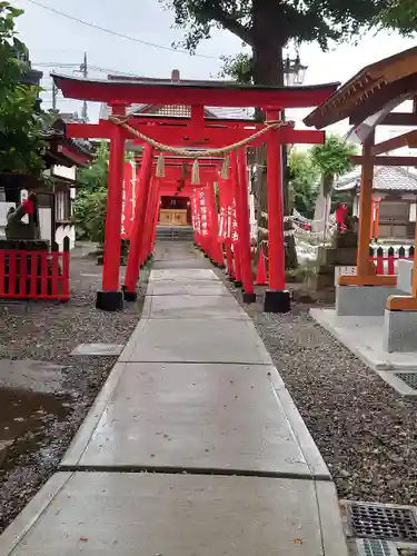
[[[160,1],[173,10],[176,24],[186,30],[183,44],[188,50],[209,39],[216,28],[230,31],[250,47],[257,85],[282,85],[282,48],[288,42],[317,41],[326,50],[330,42],[357,39],[387,7],[387,0]],[[244,66],[238,71],[244,76],[248,60],[245,56],[237,60]],[[230,68],[237,69],[229,63]]]

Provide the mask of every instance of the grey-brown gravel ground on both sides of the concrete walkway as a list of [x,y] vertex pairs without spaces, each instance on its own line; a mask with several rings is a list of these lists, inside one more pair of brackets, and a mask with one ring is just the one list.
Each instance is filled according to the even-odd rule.
[[[53,394],[0,388],[0,448],[9,421],[26,421],[2,461],[0,449],[0,532],[57,469],[116,361],[70,351],[83,342],[125,344],[140,317],[140,301],[119,314],[93,308],[100,268],[81,250],[72,256],[71,286],[68,305],[0,305],[0,359],[63,366]],[[267,315],[262,288],[257,292],[258,302],[245,308],[329,466],[339,497],[417,504],[416,403],[401,399],[316,326],[308,306],[295,305],[290,315]],[[23,418],[4,414],[4,407],[19,413],[21,406]]]

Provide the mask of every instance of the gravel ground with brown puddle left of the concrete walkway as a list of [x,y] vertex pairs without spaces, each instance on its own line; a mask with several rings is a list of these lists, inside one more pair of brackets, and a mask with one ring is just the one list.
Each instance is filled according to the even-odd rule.
[[21,385],[0,388],[0,532],[57,469],[117,359],[70,353],[86,342],[126,344],[140,318],[142,299],[117,314],[96,310],[101,268],[85,255],[81,248],[71,254],[69,304],[0,305],[0,359],[63,366],[57,371],[60,386],[51,387],[53,394],[44,391],[46,384],[38,385],[37,391],[21,389]]

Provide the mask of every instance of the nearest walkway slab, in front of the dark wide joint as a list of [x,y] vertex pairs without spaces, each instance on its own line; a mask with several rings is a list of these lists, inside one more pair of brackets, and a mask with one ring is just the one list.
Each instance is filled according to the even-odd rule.
[[331,483],[60,473],[0,537],[4,556],[347,556]]

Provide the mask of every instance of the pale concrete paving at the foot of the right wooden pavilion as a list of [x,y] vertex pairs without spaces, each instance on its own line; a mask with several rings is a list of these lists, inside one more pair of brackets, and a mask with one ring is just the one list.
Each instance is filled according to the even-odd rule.
[[415,370],[417,353],[389,354],[384,349],[384,316],[340,317],[335,309],[310,309],[311,317],[358,359],[374,370]]

